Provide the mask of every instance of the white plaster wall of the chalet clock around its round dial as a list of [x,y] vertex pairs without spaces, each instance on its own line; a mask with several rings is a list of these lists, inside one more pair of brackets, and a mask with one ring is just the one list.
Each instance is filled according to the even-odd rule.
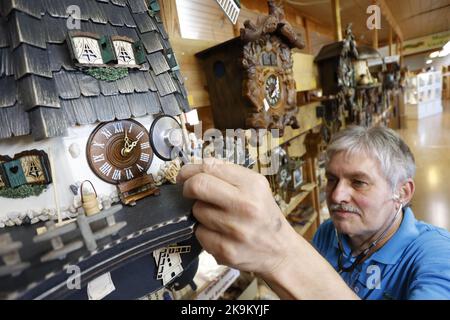
[[[147,129],[150,128],[152,116],[139,118]],[[60,209],[67,210],[73,203],[74,195],[70,191],[70,185],[84,180],[90,180],[94,184],[99,196],[110,195],[116,190],[114,185],[107,184],[97,178],[89,168],[86,160],[86,143],[90,133],[96,125],[86,125],[72,127],[66,137],[46,139],[35,142],[31,137],[19,137],[6,140],[0,140],[0,153],[13,157],[15,154],[25,150],[44,150],[49,154],[53,163],[53,183],[49,188],[38,197],[27,199],[6,199],[0,197],[0,220],[10,212],[27,212],[34,210],[41,212],[43,209],[55,209],[56,200],[54,186],[57,189],[57,199]],[[78,144],[80,155],[73,158],[69,153],[69,147],[72,144]],[[149,173],[156,173],[163,163],[156,156],[153,157]]]

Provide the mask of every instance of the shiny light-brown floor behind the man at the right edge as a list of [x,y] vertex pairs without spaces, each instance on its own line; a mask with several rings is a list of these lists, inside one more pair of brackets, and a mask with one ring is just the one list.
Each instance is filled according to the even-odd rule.
[[450,100],[443,113],[406,120],[398,130],[416,158],[416,218],[450,230]]

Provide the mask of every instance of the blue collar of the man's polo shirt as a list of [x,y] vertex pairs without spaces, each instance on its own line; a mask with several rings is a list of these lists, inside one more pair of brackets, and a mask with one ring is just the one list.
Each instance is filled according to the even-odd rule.
[[[369,258],[369,260],[375,260],[383,264],[395,264],[402,256],[406,247],[419,235],[416,222],[417,220],[414,217],[412,210],[410,208],[404,209],[403,220],[398,230],[392,238],[381,247],[381,249]],[[341,242],[344,249],[344,255],[349,256],[351,249],[346,237],[341,236]],[[333,239],[333,246],[336,249],[339,249],[337,235]]]

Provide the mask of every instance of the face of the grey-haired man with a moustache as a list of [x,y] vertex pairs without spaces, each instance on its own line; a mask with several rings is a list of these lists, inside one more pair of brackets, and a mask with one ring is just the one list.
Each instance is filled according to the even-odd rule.
[[327,179],[327,204],[339,233],[370,237],[392,217],[392,189],[375,159],[339,152],[328,163]]

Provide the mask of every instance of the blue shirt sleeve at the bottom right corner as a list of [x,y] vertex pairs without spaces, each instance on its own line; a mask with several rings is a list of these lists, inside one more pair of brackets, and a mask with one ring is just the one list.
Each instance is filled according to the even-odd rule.
[[423,239],[410,278],[408,299],[450,299],[450,238],[436,234]]

